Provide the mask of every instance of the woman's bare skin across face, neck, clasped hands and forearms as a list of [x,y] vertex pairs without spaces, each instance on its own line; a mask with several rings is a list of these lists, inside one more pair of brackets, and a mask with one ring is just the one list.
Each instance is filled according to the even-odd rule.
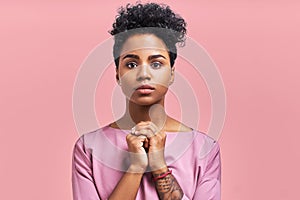
[[[174,81],[174,70],[170,66],[164,42],[155,35],[133,35],[124,43],[116,69],[116,80],[126,96],[126,111],[111,127],[134,127],[135,131],[126,137],[131,152],[130,167],[109,199],[135,199],[147,168],[153,177],[166,173],[165,131],[190,130],[165,113],[165,95]],[[138,90],[141,85],[149,85],[151,90]],[[155,181],[155,187],[160,199],[181,199],[183,196],[172,174]]]

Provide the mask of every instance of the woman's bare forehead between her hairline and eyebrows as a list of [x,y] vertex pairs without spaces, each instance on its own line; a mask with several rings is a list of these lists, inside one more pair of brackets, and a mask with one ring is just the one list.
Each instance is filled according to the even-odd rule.
[[125,41],[121,55],[141,50],[167,52],[167,47],[162,39],[153,34],[136,34]]

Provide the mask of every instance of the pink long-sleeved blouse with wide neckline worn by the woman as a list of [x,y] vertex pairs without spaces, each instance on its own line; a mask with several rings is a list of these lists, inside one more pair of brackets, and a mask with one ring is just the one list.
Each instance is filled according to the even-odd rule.
[[[74,200],[108,199],[129,166],[129,132],[105,126],[78,139],[72,163]],[[184,192],[183,199],[220,200],[218,143],[195,130],[166,134],[165,159]],[[151,172],[143,175],[136,199],[159,199]]]

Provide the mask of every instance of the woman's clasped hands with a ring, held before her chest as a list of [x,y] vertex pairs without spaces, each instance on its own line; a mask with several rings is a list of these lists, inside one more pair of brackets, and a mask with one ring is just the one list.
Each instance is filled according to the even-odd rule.
[[130,171],[144,173],[166,167],[164,148],[166,134],[151,121],[140,122],[126,136],[130,152]]

